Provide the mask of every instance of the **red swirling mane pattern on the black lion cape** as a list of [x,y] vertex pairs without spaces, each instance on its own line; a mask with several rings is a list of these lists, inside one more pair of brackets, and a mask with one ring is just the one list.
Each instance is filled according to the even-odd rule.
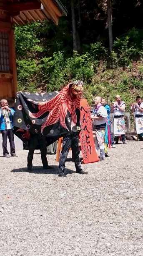
[[77,115],[75,111],[76,109],[80,109],[80,95],[73,95],[70,93],[70,84],[65,86],[63,90],[61,90],[60,93],[49,102],[33,102],[38,104],[38,112],[33,114],[28,111],[31,118],[39,118],[45,112],[49,112],[48,118],[41,126],[42,133],[45,127],[57,123],[58,120],[60,120],[60,124],[68,130],[68,127],[65,124],[67,111],[69,111],[71,115],[71,130],[73,126],[76,125]]

